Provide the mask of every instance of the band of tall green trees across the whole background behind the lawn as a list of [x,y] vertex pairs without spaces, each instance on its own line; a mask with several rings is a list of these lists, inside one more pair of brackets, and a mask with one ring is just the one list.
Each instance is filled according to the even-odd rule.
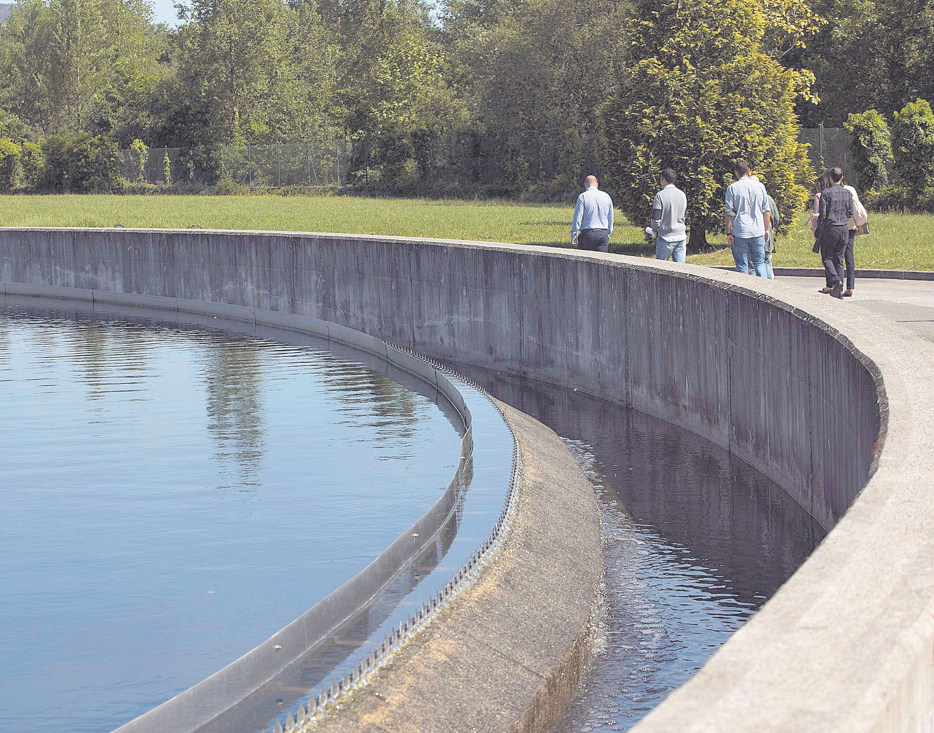
[[800,123],[934,98],[929,0],[177,8],[171,28],[147,0],[20,0],[0,26],[0,138],[59,156],[71,172],[45,183],[66,189],[134,140],[190,150],[214,181],[225,146],[335,139],[343,183],[402,193],[547,199],[606,172],[637,179],[632,206],[672,162],[697,169],[686,185],[714,226],[731,157],[796,209],[811,183]]

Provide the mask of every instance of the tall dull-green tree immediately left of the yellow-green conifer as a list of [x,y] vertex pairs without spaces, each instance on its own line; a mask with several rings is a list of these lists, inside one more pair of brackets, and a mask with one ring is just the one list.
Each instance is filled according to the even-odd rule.
[[598,172],[598,109],[626,61],[626,11],[619,0],[449,0],[454,84],[476,120],[481,173],[514,184],[503,192],[551,181],[546,195],[576,194]]

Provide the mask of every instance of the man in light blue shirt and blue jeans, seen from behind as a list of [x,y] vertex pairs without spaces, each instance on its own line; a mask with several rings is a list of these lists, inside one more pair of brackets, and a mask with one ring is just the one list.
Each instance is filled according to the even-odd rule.
[[723,222],[736,270],[740,273],[754,271],[758,277],[768,277],[765,241],[771,229],[769,194],[758,180],[749,177],[749,163],[737,161],[733,175],[736,183],[727,188]]

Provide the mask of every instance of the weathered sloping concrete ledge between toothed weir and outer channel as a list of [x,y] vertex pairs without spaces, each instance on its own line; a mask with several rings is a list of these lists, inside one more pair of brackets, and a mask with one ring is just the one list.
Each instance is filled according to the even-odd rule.
[[559,437],[502,405],[524,461],[500,559],[354,699],[328,733],[545,733],[590,655],[601,572],[593,488]]

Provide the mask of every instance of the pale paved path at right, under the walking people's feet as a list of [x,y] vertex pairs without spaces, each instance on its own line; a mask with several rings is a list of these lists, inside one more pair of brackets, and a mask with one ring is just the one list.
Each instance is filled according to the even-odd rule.
[[[824,287],[823,277],[775,275],[775,279],[807,289],[819,290]],[[853,297],[844,299],[844,302],[853,303],[873,313],[898,321],[922,338],[934,343],[934,281],[932,280],[857,278]]]

